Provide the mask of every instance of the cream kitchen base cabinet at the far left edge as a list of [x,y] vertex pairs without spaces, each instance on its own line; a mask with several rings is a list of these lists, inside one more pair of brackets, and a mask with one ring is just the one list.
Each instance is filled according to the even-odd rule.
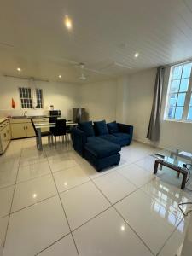
[[11,140],[9,120],[0,123],[0,154],[3,154]]

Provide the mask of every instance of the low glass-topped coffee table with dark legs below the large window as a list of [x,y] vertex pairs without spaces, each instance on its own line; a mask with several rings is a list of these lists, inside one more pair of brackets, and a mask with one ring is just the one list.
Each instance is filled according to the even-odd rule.
[[160,150],[158,153],[153,154],[156,158],[154,162],[154,174],[158,172],[158,167],[162,170],[162,166],[170,168],[172,171],[177,172],[177,177],[183,175],[181,189],[185,188],[188,179],[189,171],[183,165],[192,165],[192,153],[186,152],[178,148],[167,148]]

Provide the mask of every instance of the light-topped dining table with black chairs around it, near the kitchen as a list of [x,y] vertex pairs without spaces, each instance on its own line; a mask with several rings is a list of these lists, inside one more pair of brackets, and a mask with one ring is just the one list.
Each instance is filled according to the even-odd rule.
[[[38,150],[42,151],[43,150],[43,145],[42,145],[42,136],[41,132],[43,128],[54,128],[56,126],[56,123],[49,123],[49,122],[44,122],[44,123],[34,123],[35,128],[38,131]],[[66,126],[77,126],[78,123],[74,123],[73,121],[66,121]]]

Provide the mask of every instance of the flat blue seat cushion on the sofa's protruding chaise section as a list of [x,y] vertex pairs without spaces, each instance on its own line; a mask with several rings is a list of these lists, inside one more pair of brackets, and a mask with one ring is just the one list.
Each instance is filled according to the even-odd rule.
[[101,143],[86,143],[84,148],[96,158],[108,157],[112,154],[117,154],[120,151],[119,145],[102,140]]

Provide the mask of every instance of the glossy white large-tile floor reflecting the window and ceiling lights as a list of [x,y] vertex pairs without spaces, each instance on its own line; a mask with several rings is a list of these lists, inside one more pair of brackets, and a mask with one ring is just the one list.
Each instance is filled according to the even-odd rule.
[[96,172],[69,143],[46,143],[13,141],[0,156],[0,255],[175,255],[188,224],[177,204],[192,194],[153,175],[156,149],[132,143]]

